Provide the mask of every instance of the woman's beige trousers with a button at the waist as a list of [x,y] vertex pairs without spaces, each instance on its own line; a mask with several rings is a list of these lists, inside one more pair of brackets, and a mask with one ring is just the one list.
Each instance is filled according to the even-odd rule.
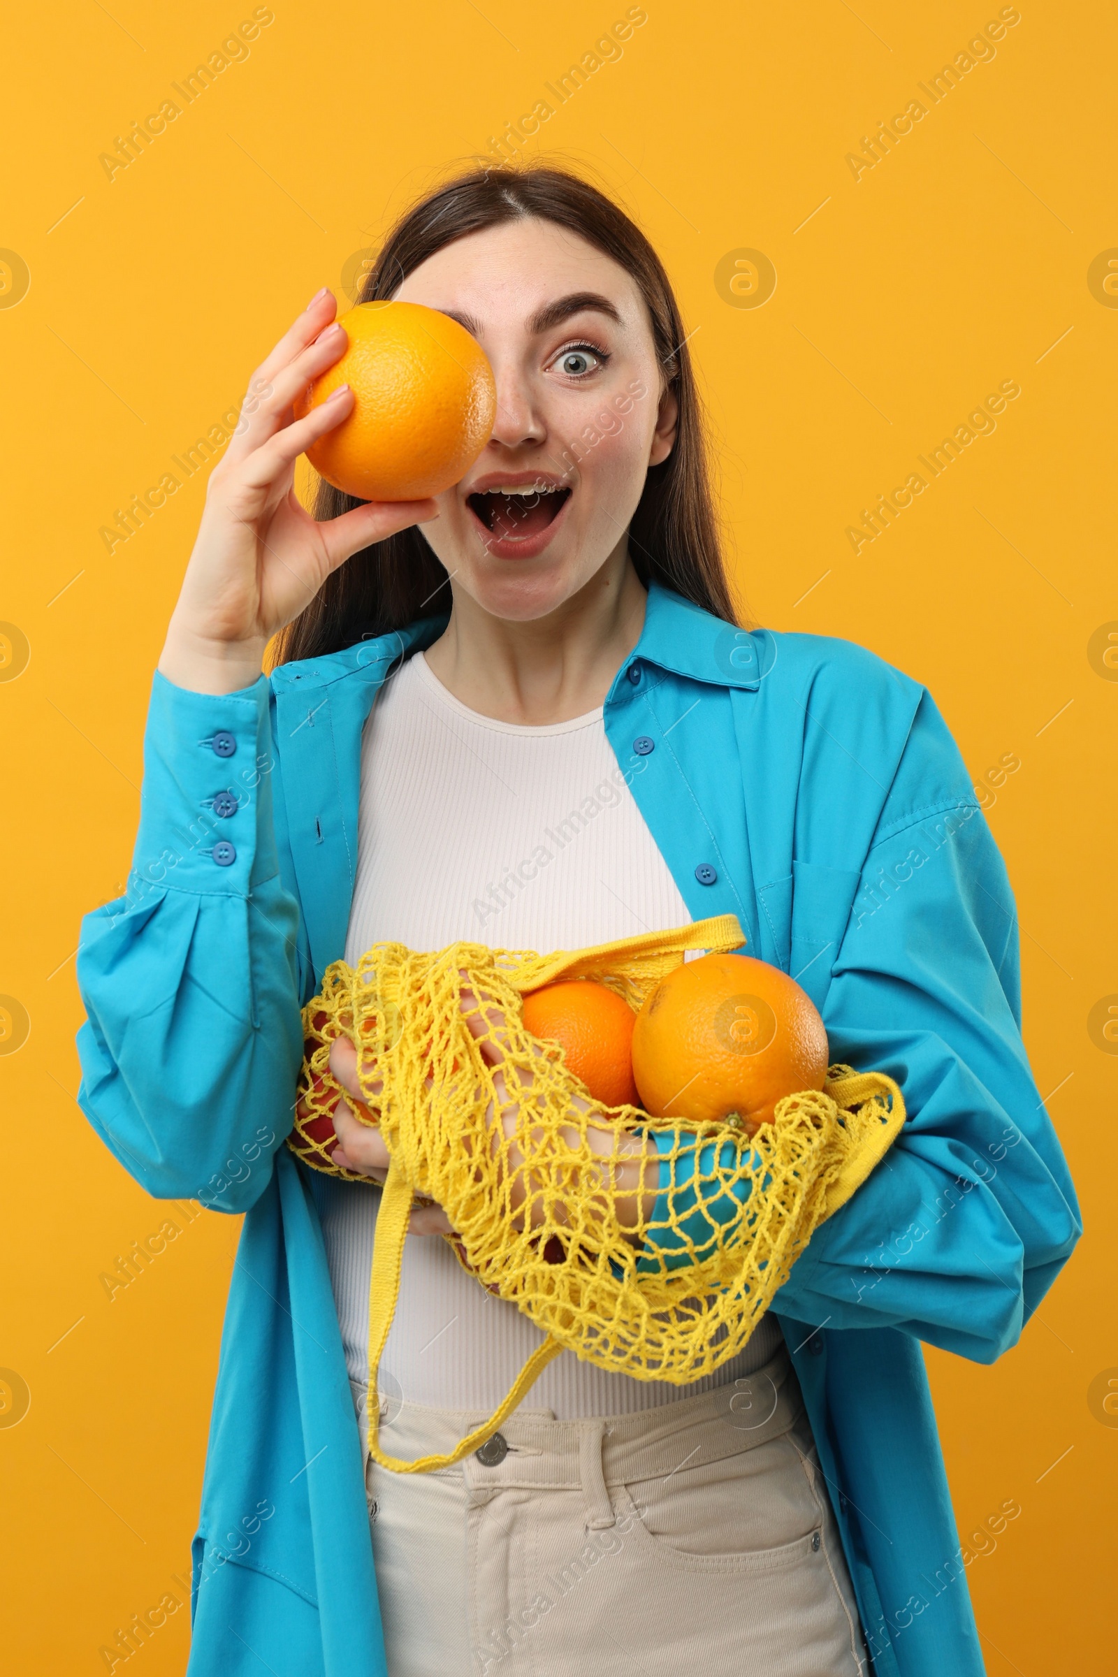
[[[389,1405],[407,1461],[483,1417]],[[788,1350],[657,1409],[520,1409],[432,1474],[367,1457],[391,1677],[857,1677],[850,1576]],[[501,1459],[496,1459],[501,1457]]]

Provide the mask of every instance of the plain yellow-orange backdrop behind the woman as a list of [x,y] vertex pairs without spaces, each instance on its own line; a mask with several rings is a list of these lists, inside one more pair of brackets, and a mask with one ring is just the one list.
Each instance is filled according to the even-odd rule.
[[[112,555],[99,528],[236,406],[285,324],[399,206],[625,15],[610,0],[277,0],[250,55],[109,179],[99,154],[251,10],[111,0],[22,7],[5,25],[18,169],[0,226],[17,257],[0,267],[0,619],[17,634],[0,641],[0,993],[30,1018],[17,1046],[8,1005],[0,1040],[15,1050],[0,1053],[12,1677],[104,1670],[132,1613],[183,1595],[238,1234],[203,1212],[112,1300],[99,1280],[168,1207],[74,1102],[72,953],[80,914],[129,865],[148,688],[204,473]],[[1022,0],[996,57],[924,97],[917,84],[997,17],[982,0],[920,15],[898,0],[650,0],[528,153],[597,171],[664,255],[754,617],[860,641],[925,681],[989,787],[1021,909],[1026,1041],[1088,1238],[997,1367],[929,1363],[960,1533],[1021,1504],[969,1568],[991,1674],[1101,1677],[1118,1449],[1103,1407],[1118,1375],[1115,15]],[[912,99],[927,116],[855,178],[846,153]],[[759,307],[739,305],[756,297],[741,250],[776,272]],[[744,275],[738,293],[727,273]],[[855,553],[862,508],[1007,379],[1021,396],[997,429]],[[1002,758],[1019,766],[1002,775]],[[183,1608],[134,1659],[158,1677],[186,1648]]]

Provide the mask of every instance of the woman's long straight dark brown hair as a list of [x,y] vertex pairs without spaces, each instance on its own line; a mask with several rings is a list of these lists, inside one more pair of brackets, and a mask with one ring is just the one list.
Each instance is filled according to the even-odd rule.
[[[553,166],[476,168],[421,198],[387,235],[360,302],[392,297],[407,275],[466,233],[538,216],[578,233],[632,273],[652,317],[655,357],[679,402],[679,433],[665,461],[650,466],[629,527],[637,575],[738,622],[711,491],[707,438],[679,305],[655,250],[630,218],[588,181]],[[360,501],[320,481],[315,518],[337,518]],[[449,607],[446,570],[412,525],[354,553],[283,631],[277,662],[335,652],[402,629]]]

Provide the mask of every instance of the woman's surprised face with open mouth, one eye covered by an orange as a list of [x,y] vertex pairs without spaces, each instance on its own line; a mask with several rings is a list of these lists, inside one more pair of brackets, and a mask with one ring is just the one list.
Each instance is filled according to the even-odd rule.
[[459,320],[496,379],[493,436],[422,533],[486,612],[545,617],[624,558],[645,473],[675,439],[644,299],[535,218],[456,240],[394,295]]

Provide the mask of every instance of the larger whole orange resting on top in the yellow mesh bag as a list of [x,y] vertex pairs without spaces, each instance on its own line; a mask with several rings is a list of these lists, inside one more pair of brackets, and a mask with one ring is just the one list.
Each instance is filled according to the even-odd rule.
[[811,998],[779,968],[746,954],[704,954],[645,998],[632,1062],[652,1117],[729,1119],[751,1135],[784,1095],[823,1088],[826,1030]]

